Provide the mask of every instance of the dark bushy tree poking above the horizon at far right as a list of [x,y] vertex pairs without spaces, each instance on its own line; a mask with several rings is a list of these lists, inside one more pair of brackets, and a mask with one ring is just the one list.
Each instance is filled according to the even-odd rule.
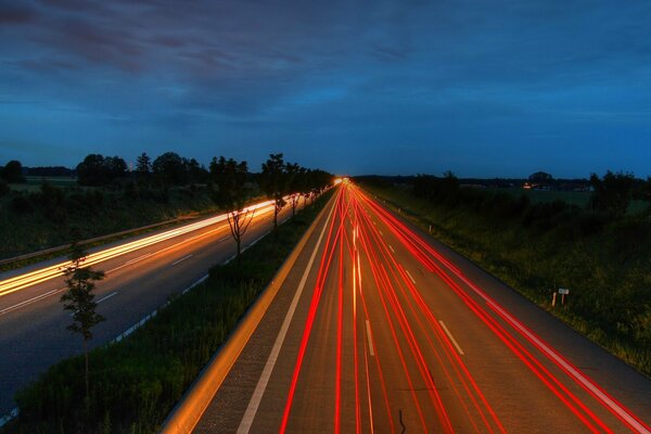
[[597,174],[592,174],[590,184],[595,189],[590,200],[592,210],[607,212],[615,218],[626,214],[635,187],[633,174],[613,174],[608,170],[602,179]]

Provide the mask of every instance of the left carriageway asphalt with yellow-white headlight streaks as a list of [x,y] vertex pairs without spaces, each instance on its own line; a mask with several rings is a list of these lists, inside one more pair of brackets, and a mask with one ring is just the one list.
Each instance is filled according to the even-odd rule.
[[[272,209],[268,205],[256,209],[243,246],[271,229]],[[285,207],[279,221],[290,215]],[[225,216],[91,250],[88,263],[106,272],[95,289],[98,311],[106,321],[93,329],[91,345],[105,344],[131,329],[234,253]],[[0,275],[0,416],[15,407],[13,396],[20,387],[81,352],[80,337],[66,330],[71,318],[60,303],[65,284],[56,265],[62,260]]]

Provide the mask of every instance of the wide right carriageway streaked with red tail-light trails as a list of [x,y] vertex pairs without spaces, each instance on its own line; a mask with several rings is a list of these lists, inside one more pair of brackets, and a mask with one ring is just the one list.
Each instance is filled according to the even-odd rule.
[[649,433],[651,381],[345,183],[195,433]]

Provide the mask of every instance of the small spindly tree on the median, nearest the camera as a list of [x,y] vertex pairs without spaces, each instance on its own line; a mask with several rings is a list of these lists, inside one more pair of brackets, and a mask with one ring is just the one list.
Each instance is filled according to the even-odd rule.
[[104,317],[95,311],[94,302],[94,282],[104,278],[103,271],[91,270],[90,267],[82,267],[86,260],[86,252],[78,243],[73,243],[68,256],[71,263],[63,268],[66,277],[65,284],[67,291],[61,297],[64,310],[72,311],[73,323],[67,329],[74,333],[79,333],[84,339],[84,358],[85,358],[85,383],[86,398],[90,396],[89,369],[88,369],[88,341],[92,339],[91,329],[98,323],[104,321]]

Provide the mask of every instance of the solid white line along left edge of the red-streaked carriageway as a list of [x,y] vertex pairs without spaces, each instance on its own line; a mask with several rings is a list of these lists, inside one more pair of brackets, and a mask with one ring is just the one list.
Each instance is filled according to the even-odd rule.
[[253,425],[253,420],[255,419],[255,414],[260,405],[260,400],[263,399],[263,395],[265,394],[265,390],[267,388],[267,383],[269,383],[269,378],[271,376],[271,372],[273,371],[273,367],[276,366],[276,360],[278,359],[278,354],[280,353],[280,348],[284,342],[285,335],[288,334],[288,329],[290,328],[290,322],[292,322],[292,318],[294,317],[294,311],[296,310],[296,306],[298,305],[298,299],[301,298],[301,294],[303,294],[303,288],[307,282],[307,276],[312,267],[315,258],[317,257],[317,252],[319,246],[321,245],[321,240],[323,239],[323,233],[326,233],[326,228],[328,228],[328,222],[330,221],[330,217],[332,217],[332,213],[334,212],[334,206],[330,209],[330,214],[328,215],[328,219],[326,220],[326,225],[323,225],[323,229],[321,230],[321,234],[317,240],[317,245],[315,245],[315,250],[307,263],[307,267],[305,267],[305,271],[303,272],[303,277],[301,278],[301,282],[298,283],[298,288],[296,289],[296,293],[294,294],[294,298],[292,298],[292,304],[290,305],[290,309],[285,315],[284,320],[282,321],[282,326],[280,331],[278,332],[278,336],[276,337],[276,342],[273,343],[273,347],[271,348],[271,353],[269,354],[269,358],[265,363],[265,369],[263,370],[263,374],[258,380],[257,385],[255,386],[255,391],[251,396],[251,400],[248,401],[248,406],[246,407],[246,411],[244,412],[244,417],[242,418],[242,422],[240,422],[240,426],[238,427],[238,434],[247,434],[251,430],[251,425]]

